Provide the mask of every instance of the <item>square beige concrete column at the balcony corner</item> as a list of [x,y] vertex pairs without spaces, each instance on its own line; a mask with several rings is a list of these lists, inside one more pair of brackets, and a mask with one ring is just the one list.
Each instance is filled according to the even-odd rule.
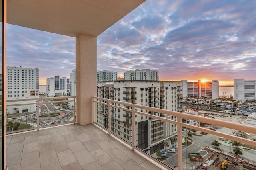
[[76,37],[76,120],[92,123],[92,96],[97,96],[97,37]]

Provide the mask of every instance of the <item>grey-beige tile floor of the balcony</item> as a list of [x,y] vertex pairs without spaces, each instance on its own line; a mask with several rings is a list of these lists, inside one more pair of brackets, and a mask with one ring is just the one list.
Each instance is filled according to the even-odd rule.
[[9,170],[160,170],[94,125],[7,136]]

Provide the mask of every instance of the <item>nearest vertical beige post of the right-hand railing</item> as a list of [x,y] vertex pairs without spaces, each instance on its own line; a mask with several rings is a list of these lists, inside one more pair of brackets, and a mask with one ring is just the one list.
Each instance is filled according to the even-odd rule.
[[[182,170],[182,126],[181,117],[177,117],[177,137],[178,137],[178,170]],[[174,156],[174,155],[173,155]]]

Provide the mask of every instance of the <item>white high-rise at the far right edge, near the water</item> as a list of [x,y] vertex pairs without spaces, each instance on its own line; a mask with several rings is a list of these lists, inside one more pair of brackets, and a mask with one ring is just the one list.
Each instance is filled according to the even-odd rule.
[[256,80],[234,79],[234,100],[256,100]]

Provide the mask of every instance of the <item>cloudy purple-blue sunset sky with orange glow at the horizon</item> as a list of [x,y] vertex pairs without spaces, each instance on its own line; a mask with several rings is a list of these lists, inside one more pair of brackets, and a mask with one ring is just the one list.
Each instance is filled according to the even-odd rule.
[[[147,0],[100,36],[97,69],[150,68],[160,80],[256,80],[256,1]],[[39,68],[40,85],[75,68],[75,38],[7,25],[7,66]]]

